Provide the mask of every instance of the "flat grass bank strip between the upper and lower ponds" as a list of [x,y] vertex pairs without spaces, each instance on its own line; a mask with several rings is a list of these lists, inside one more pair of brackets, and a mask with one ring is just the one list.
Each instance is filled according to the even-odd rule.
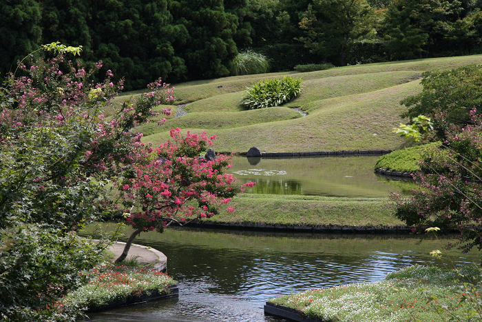
[[229,203],[235,212],[222,212],[209,223],[258,223],[314,227],[397,228],[388,199],[336,198],[296,195],[241,194]]

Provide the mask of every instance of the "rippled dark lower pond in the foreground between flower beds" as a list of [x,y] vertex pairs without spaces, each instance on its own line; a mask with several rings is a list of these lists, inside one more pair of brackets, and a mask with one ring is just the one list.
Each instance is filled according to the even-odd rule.
[[[379,281],[388,272],[414,264],[451,265],[428,254],[441,249],[437,241],[417,241],[392,234],[146,232],[134,242],[167,255],[167,272],[179,282],[179,298],[90,314],[90,321],[284,321],[264,316],[267,299],[309,288]],[[480,262],[478,252],[449,253],[456,265]]]

